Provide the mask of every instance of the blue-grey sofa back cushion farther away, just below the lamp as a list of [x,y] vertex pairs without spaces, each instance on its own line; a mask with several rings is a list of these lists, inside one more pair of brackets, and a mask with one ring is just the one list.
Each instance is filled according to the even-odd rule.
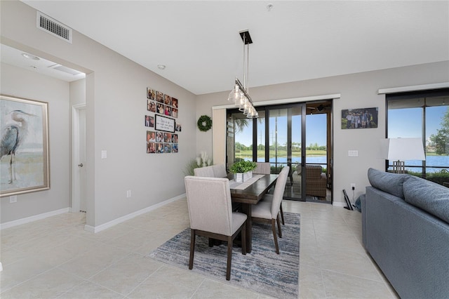
[[387,173],[374,168],[368,169],[368,180],[371,186],[396,197],[401,197],[401,199],[404,199],[403,183],[409,177],[410,175],[407,174]]

